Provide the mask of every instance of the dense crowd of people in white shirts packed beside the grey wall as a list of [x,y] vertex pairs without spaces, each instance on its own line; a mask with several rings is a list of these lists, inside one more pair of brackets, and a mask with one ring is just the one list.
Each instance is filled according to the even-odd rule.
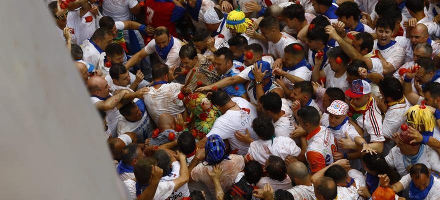
[[128,199],[440,199],[439,0],[44,0]]

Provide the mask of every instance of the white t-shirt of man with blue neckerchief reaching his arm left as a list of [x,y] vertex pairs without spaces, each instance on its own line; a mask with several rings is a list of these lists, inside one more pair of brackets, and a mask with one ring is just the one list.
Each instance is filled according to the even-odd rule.
[[[161,63],[164,63],[166,65],[168,65],[169,68],[172,68],[174,66],[179,66],[180,64],[180,57],[178,56],[178,52],[180,51],[180,47],[182,46],[182,43],[179,39],[172,37],[172,39],[174,39],[174,43],[171,47],[171,49],[168,52],[168,55],[166,56],[166,59],[162,59],[160,56],[159,57],[159,61]],[[152,53],[156,53],[156,41],[154,39],[152,39],[144,48],[143,50],[145,50],[146,53],[152,54]]]

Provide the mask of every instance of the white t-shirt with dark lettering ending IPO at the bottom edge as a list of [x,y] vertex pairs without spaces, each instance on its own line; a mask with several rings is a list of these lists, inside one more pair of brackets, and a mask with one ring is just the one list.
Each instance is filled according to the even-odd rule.
[[[160,182],[173,182],[173,180],[178,178],[179,176],[180,176],[180,163],[178,161],[174,161],[171,163],[171,174],[160,178],[159,184]],[[187,196],[189,196],[189,189],[188,189],[188,183],[185,183],[176,190],[172,189],[172,193],[168,196],[168,198],[163,198],[163,199],[181,199]]]

